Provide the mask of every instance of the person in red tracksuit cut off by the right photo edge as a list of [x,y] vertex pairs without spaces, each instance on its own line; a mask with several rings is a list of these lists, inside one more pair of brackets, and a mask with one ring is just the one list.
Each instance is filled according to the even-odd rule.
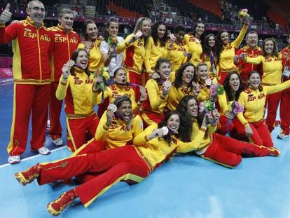
[[[284,48],[282,53],[282,64],[283,70],[286,75],[283,74],[282,80],[288,81],[290,79],[290,32],[287,35],[288,46]],[[289,114],[289,105],[290,105],[290,88],[282,91],[282,97],[280,102],[280,118],[281,118],[281,132],[277,135],[278,139],[289,138],[290,132],[290,114]]]

